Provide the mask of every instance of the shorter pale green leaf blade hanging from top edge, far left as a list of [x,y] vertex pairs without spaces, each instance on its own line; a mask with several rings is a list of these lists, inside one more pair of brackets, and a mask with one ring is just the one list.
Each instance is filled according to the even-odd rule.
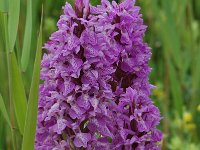
[[9,50],[11,52],[14,49],[17,37],[19,14],[20,14],[20,0],[9,0],[8,37],[9,37]]

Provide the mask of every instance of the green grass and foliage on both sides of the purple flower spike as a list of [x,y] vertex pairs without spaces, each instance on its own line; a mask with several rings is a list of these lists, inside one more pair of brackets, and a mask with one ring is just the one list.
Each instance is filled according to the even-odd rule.
[[[31,121],[36,122],[36,107],[30,107],[37,104],[33,83],[40,61],[35,56],[40,54],[36,49],[40,51],[41,39],[46,42],[56,31],[64,4],[65,0],[0,0],[0,150],[32,149],[25,147],[33,144],[27,135]],[[137,0],[136,4],[149,26],[145,41],[153,53],[150,82],[157,86],[152,99],[163,116],[162,149],[199,150],[200,0]],[[42,5],[43,38],[39,32]],[[26,118],[23,111],[28,112]],[[27,130],[22,131],[24,126]]]

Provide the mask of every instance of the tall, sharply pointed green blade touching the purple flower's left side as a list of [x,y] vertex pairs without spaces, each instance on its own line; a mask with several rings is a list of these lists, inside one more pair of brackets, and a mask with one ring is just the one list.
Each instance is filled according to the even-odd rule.
[[28,110],[26,114],[22,150],[34,149],[34,139],[35,139],[35,131],[36,131],[36,123],[37,123],[37,111],[38,111],[40,62],[41,62],[41,55],[42,55],[42,22],[43,22],[43,13],[41,17],[40,31],[39,31],[38,42],[37,42],[37,51],[36,51],[33,78],[32,78],[29,101],[28,101]]

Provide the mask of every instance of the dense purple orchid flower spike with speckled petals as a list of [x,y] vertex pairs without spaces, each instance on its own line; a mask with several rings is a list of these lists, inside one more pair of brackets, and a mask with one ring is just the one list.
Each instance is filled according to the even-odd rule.
[[134,0],[69,3],[41,64],[36,150],[157,150],[150,48]]

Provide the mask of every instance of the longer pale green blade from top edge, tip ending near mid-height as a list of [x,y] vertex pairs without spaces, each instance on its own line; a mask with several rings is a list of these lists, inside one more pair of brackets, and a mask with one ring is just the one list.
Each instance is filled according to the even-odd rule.
[[24,41],[22,48],[21,66],[22,71],[26,71],[28,67],[30,51],[31,51],[31,37],[32,37],[32,0],[28,0],[27,14],[26,14],[26,26],[24,33]]

